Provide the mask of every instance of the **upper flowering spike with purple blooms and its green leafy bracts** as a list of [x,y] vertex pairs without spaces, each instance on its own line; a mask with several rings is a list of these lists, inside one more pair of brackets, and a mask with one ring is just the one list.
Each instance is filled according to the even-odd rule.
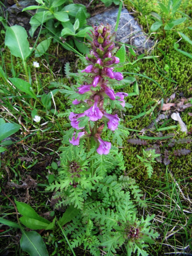
[[[128,129],[120,125],[120,118],[113,114],[124,107],[132,107],[125,103],[125,92],[115,92],[115,87],[125,84],[123,75],[115,71],[119,58],[115,56],[117,48],[114,44],[114,34],[110,33],[110,25],[100,24],[93,26],[91,31],[92,41],[89,43],[90,53],[86,56],[87,67],[78,73],[81,82],[73,91],[61,90],[70,95],[75,110],[69,115],[71,126],[75,129],[69,132],[68,140],[74,146],[81,140],[87,141],[87,149],[94,150],[100,155],[108,155],[112,143],[117,139],[117,144],[122,146],[121,137],[128,134]],[[106,136],[107,132],[107,136]],[[84,133],[84,135],[82,135]],[[104,137],[105,138],[102,138]],[[92,148],[91,148],[92,147]]]

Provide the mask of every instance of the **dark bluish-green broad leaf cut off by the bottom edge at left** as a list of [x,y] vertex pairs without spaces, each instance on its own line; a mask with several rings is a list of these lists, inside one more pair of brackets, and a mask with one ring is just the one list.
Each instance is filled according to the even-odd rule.
[[26,232],[22,230],[20,247],[28,252],[30,256],[49,256],[43,238],[35,231]]

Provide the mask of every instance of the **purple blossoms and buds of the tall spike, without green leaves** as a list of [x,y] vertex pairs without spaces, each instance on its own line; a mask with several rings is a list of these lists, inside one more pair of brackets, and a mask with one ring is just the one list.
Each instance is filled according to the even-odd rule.
[[[119,63],[119,58],[114,56],[115,44],[114,34],[110,33],[111,26],[104,26],[102,23],[98,27],[93,26],[92,42],[90,42],[90,53],[86,56],[88,61],[88,66],[81,72],[88,74],[89,79],[86,81],[86,76],[84,76],[85,81],[80,87],[78,87],[79,94],[85,94],[87,99],[84,102],[78,101],[77,99],[73,101],[74,105],[83,103],[87,106],[87,109],[83,113],[75,114],[73,112],[69,115],[69,120],[71,121],[71,126],[77,130],[84,129],[83,132],[79,132],[77,135],[73,134],[72,140],[69,140],[73,145],[79,145],[79,140],[81,137],[93,136],[95,141],[98,143],[97,153],[102,155],[107,155],[111,148],[111,143],[103,141],[100,138],[100,134],[104,127],[103,123],[107,123],[108,129],[115,131],[118,129],[118,124],[120,118],[117,115],[111,115],[104,109],[104,99],[117,100],[122,105],[125,106],[124,97],[128,96],[124,92],[114,92],[110,86],[110,79],[118,81],[123,79],[123,75],[120,72],[114,71],[114,66]],[[113,83],[114,84],[114,83]],[[94,89],[95,88],[95,89]],[[105,101],[106,102],[106,101]],[[85,105],[86,104],[86,105]],[[99,125],[87,131],[85,127],[79,127],[80,120],[82,117],[89,117],[92,122],[97,122],[95,125]],[[79,119],[81,118],[81,119]]]

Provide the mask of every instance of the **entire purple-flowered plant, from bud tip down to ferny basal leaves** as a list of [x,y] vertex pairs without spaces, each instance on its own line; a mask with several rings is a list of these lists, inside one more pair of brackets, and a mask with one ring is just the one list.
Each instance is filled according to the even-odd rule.
[[83,244],[93,256],[101,252],[113,256],[124,244],[127,255],[137,251],[146,256],[145,243],[158,236],[149,223],[154,215],[136,218],[130,193],[142,206],[141,190],[126,175],[123,154],[115,146],[122,146],[129,134],[120,124],[122,110],[131,107],[125,102],[128,94],[116,91],[126,81],[115,70],[119,59],[110,26],[93,26],[91,33],[87,66],[70,74],[77,85],[60,90],[70,98],[72,108],[60,148],[61,168],[47,190],[55,190],[58,206],[67,208],[60,223],[71,220],[64,232],[70,235],[72,247]]

